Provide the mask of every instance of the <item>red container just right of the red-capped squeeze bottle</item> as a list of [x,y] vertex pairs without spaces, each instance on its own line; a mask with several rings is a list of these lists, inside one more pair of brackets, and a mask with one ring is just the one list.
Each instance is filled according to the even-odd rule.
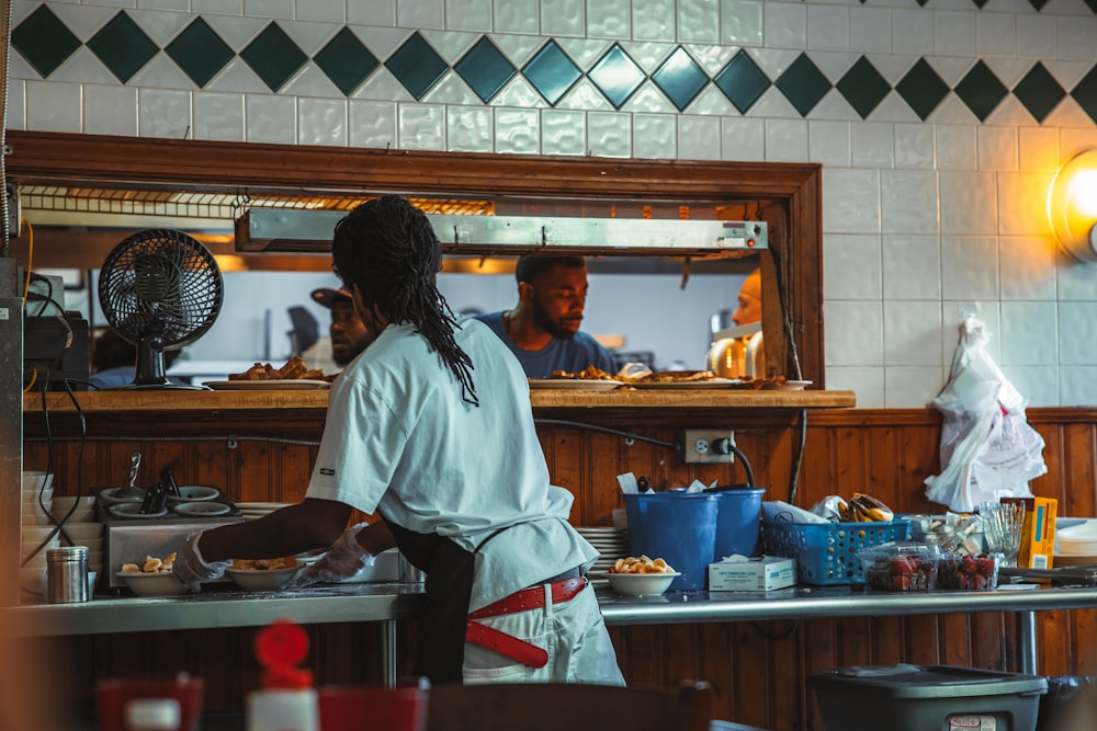
[[320,731],[425,731],[429,686],[385,688],[370,685],[325,685],[317,688]]

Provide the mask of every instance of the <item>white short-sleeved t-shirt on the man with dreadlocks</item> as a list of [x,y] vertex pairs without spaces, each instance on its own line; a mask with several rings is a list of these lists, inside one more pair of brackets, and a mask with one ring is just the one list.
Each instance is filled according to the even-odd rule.
[[597,551],[548,484],[521,366],[486,325],[457,317],[479,407],[410,324],[389,325],[332,384],[308,498],[337,500],[479,552],[470,610]]

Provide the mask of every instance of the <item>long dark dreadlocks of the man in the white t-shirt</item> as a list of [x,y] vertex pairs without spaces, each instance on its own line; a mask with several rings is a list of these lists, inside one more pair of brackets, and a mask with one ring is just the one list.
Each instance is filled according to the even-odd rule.
[[336,271],[358,285],[366,306],[392,322],[410,322],[461,384],[461,398],[479,406],[473,362],[453,339],[459,327],[438,292],[442,250],[427,216],[398,195],[363,203],[336,225]]

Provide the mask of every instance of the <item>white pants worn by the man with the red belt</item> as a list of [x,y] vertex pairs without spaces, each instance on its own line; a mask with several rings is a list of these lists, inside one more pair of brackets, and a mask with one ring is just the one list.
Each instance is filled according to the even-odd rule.
[[[548,584],[545,584],[547,591]],[[551,597],[551,594],[550,594]],[[530,667],[494,650],[465,642],[464,682],[596,683],[624,685],[595,590],[587,586],[569,602],[476,621],[548,653],[544,667]]]

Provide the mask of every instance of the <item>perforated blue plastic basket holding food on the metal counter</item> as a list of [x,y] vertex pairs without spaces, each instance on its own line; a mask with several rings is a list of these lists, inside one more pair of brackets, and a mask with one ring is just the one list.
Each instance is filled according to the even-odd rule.
[[909,521],[779,523],[762,519],[762,552],[796,559],[796,579],[802,584],[863,584],[864,569],[857,551],[905,540],[909,526]]

